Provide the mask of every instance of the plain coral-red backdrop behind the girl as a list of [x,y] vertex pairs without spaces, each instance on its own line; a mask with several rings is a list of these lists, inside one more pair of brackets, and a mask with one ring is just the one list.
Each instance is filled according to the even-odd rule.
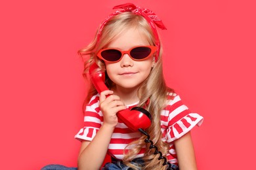
[[[255,165],[255,3],[130,1],[154,10],[167,83],[204,116],[198,169]],[[120,0],[0,3],[1,169],[76,166],[86,84],[77,50]]]

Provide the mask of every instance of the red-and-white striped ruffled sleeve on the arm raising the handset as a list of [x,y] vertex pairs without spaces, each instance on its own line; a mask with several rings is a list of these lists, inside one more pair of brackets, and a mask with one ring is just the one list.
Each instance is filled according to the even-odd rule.
[[85,109],[84,127],[75,135],[75,139],[92,141],[102,125],[102,120],[102,112],[98,108],[98,95],[95,95]]

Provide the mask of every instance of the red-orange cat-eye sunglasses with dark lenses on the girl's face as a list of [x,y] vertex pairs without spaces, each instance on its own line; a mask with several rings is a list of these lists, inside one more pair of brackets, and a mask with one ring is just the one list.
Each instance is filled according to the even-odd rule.
[[135,46],[127,51],[121,51],[117,48],[103,48],[98,52],[97,56],[104,61],[116,63],[121,60],[123,54],[129,54],[133,60],[142,61],[154,54],[156,49],[156,46]]

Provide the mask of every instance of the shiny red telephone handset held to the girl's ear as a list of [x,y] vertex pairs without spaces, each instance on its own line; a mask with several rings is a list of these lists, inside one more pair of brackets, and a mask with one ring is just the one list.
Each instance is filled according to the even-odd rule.
[[[105,80],[105,73],[98,73],[95,70],[98,69],[98,65],[93,63],[89,69],[89,75],[93,85],[95,86],[98,93],[108,90]],[[150,113],[140,107],[134,107],[133,109],[125,109],[117,112],[117,118],[121,120],[129,129],[137,131],[138,129],[146,129],[151,125]]]

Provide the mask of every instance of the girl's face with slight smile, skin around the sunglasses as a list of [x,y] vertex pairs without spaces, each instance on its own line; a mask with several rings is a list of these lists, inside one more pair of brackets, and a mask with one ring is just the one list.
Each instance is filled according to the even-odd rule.
[[[135,46],[148,46],[150,43],[146,36],[139,29],[128,29],[121,33],[108,48],[129,50]],[[153,55],[142,61],[135,61],[129,54],[124,54],[117,63],[106,63],[106,71],[109,78],[116,84],[116,88],[137,89],[148,77],[154,65]]]

